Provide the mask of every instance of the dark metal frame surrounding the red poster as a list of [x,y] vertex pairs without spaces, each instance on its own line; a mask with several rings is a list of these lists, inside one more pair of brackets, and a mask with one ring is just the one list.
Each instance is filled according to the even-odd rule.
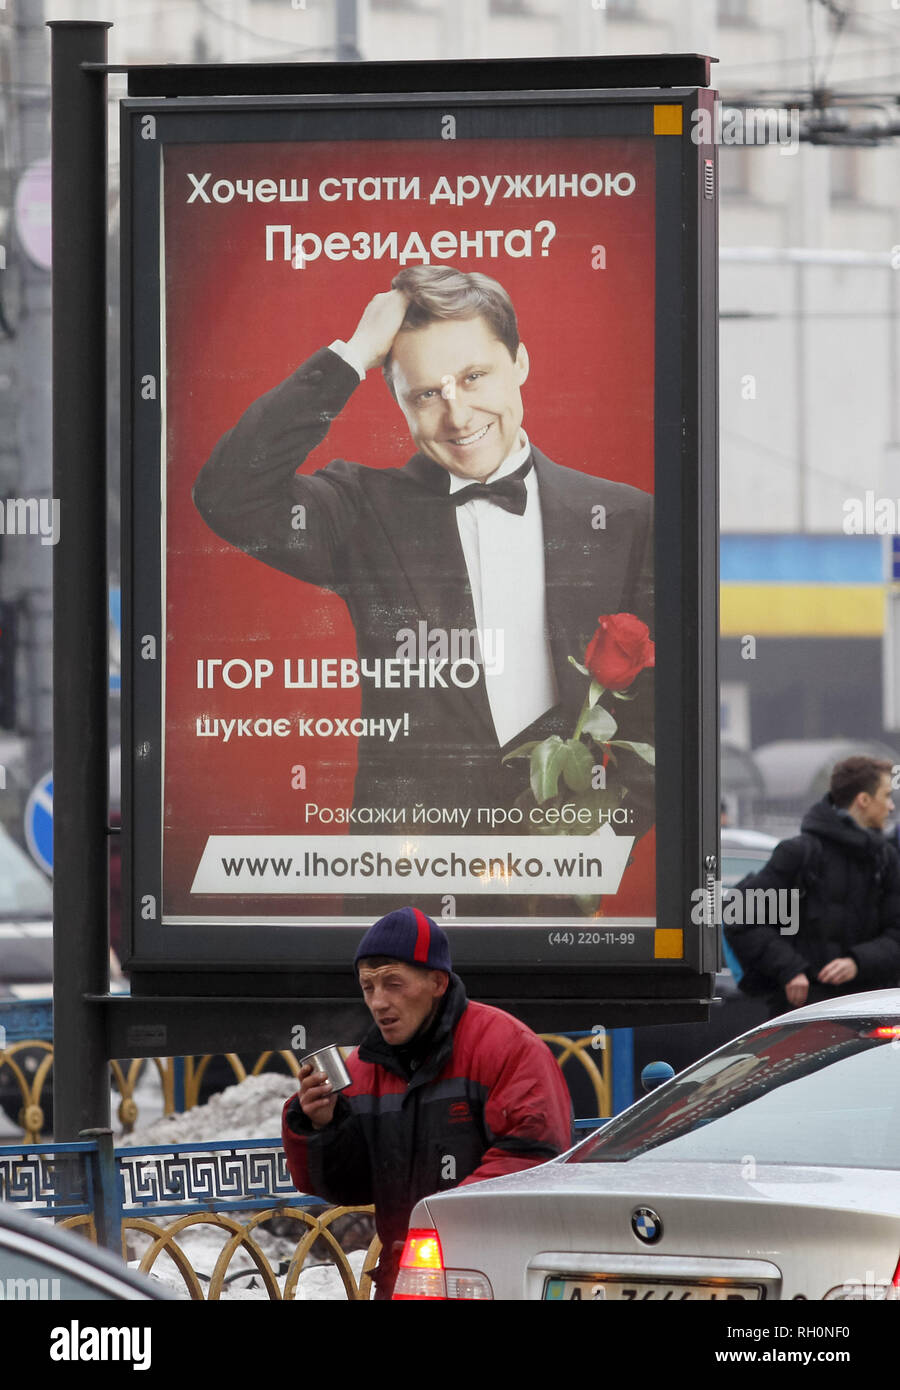
[[[394,65],[396,67],[396,65]],[[410,64],[410,68],[421,65]],[[426,65],[427,67],[427,65]],[[420,72],[420,85],[424,85]],[[184,89],[182,89],[184,90]],[[683,933],[683,956],[641,965],[600,963],[587,951],[559,962],[529,960],[515,926],[474,930],[447,923],[455,959],[473,994],[523,1012],[558,1019],[566,1008],[584,1022],[598,1001],[658,1004],[666,1017],[697,1016],[715,969],[715,931],[690,922],[691,891],[715,877],[718,853],[716,574],[716,292],[715,152],[691,136],[691,113],[711,108],[697,88],[547,89],[492,92],[321,93],[303,96],[179,96],[122,103],[122,500],[127,602],[124,610],[124,863],[127,963],[135,992],[246,994],[253,979],[266,995],[316,994],[349,999],[346,930],[289,929],[260,923],[161,926],[161,662],[140,657],[154,635],[163,648],[161,613],[161,410],[138,400],[136,382],[160,381],[161,152],[167,145],[275,140],[392,140],[434,133],[440,117],[466,113],[466,139],[647,133],[655,104],[682,108],[682,133],[657,145],[657,710],[658,710],[658,913],[662,931]],[[366,113],[362,135],[359,113]],[[154,118],[154,138],[143,136]],[[643,125],[640,121],[643,120]],[[652,121],[652,115],[651,115]],[[548,129],[549,128],[549,129]],[[160,521],[161,525],[161,521]],[[705,641],[704,641],[705,638]],[[702,819],[705,817],[705,820]],[[149,912],[146,905],[150,903]],[[143,912],[147,916],[142,916]],[[152,913],[152,916],[149,915]],[[504,931],[508,963],[497,965]],[[523,933],[534,931],[523,923]],[[587,934],[586,934],[587,935]],[[668,1001],[668,1002],[664,1002]],[[643,1012],[643,1011],[641,1011]]]

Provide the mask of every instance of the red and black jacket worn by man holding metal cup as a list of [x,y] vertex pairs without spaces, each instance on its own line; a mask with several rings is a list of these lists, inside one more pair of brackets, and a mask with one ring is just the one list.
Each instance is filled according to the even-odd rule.
[[296,1095],[285,1104],[284,1148],[299,1191],[374,1204],[381,1297],[420,1198],[533,1168],[572,1143],[572,1101],[547,1044],[511,1013],[469,1002],[456,974],[419,1065],[373,1027],[346,1066],[353,1084],[326,1129]]

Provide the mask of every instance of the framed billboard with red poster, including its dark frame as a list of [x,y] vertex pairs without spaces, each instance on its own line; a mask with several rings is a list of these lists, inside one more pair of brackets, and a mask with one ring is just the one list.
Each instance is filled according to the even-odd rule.
[[488,969],[698,967],[711,97],[659,96],[125,103],[138,967],[405,901]]

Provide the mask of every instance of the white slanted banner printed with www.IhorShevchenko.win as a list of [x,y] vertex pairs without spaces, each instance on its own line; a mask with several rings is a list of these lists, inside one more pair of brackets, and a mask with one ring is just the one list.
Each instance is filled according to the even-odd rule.
[[618,892],[633,835],[210,835],[191,892]]

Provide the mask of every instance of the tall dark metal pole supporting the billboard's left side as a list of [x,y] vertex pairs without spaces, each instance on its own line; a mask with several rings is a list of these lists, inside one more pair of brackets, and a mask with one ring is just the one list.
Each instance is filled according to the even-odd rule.
[[106,22],[51,22],[54,1133],[110,1123]]

